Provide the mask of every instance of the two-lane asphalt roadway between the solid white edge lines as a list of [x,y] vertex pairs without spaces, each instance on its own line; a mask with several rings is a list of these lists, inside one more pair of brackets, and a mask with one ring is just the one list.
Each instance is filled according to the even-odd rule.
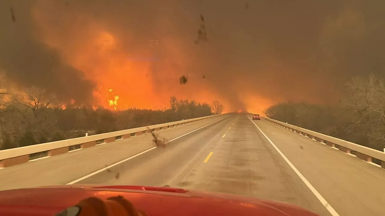
[[226,118],[172,142],[166,149],[137,156],[79,183],[169,184],[285,201],[322,216],[330,215],[244,114]]

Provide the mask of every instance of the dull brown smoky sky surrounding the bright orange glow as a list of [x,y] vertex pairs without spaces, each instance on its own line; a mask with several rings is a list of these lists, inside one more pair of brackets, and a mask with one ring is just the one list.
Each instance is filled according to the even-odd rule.
[[[36,1],[5,2],[0,66],[7,75],[63,98],[90,98],[95,83],[41,40],[31,15]],[[353,76],[385,76],[382,0],[54,2],[44,10],[57,35],[78,40],[72,36],[84,32],[87,23],[71,28],[82,22],[77,15],[85,16],[119,38],[122,50],[135,58],[156,59],[149,67],[154,91],[207,88],[227,100],[231,110],[245,108],[245,94],[274,103],[334,103]],[[197,44],[201,15],[208,41]],[[159,43],[154,46],[150,40]],[[170,68],[174,79],[169,79]],[[182,75],[189,76],[187,87],[173,87]]]

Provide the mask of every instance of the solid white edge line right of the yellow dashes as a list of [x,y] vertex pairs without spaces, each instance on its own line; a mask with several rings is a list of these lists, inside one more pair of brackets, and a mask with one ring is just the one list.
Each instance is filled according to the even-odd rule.
[[313,192],[313,194],[318,198],[318,200],[323,204],[323,206],[325,206],[325,208],[330,212],[330,214],[332,216],[340,216],[334,210],[334,208],[331,207],[331,205],[326,201],[326,199],[323,198],[323,196],[321,196],[321,194],[313,187],[313,185],[310,184],[310,182],[305,178],[305,176],[303,176],[303,174],[301,174],[300,171],[298,171],[298,169],[289,161],[288,158],[286,158],[286,156],[278,149],[278,147],[266,136],[266,134],[263,133],[263,131],[254,123],[254,121],[251,120],[251,118],[249,116],[247,116],[247,117],[249,118],[249,120],[251,122],[253,122],[253,124],[258,128],[258,130],[261,131],[263,136],[269,141],[269,143],[275,148],[275,150],[277,150],[278,153],[280,153],[280,155],[286,161],[286,163],[288,163],[289,166],[291,167],[291,169],[293,169],[295,171],[295,173],[300,177],[300,179],[303,181],[303,183],[305,183],[306,186],[308,186],[308,188],[311,190],[311,192]]

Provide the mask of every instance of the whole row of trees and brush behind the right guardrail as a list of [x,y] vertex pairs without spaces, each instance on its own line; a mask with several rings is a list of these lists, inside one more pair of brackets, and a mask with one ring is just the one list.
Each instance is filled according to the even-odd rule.
[[346,94],[330,106],[285,102],[264,111],[269,118],[383,151],[385,85],[370,75],[346,84]]

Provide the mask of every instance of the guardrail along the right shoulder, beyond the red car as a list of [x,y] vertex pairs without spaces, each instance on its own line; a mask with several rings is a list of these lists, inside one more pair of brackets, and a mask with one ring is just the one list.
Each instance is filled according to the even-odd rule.
[[290,125],[288,123],[284,123],[282,121],[277,121],[271,118],[263,117],[264,120],[275,123],[276,125],[287,128],[291,131],[299,133],[301,135],[307,136],[313,140],[324,143],[330,147],[338,148],[340,151],[350,154],[350,151],[357,151],[357,158],[360,158],[367,162],[372,162],[372,158],[376,158],[381,161],[381,167],[385,169],[385,153],[382,151],[378,151],[372,148],[368,148],[366,146],[358,145],[356,143],[352,143],[346,140],[341,140],[332,136],[328,136],[322,133],[318,133],[315,131],[307,130],[305,128],[300,128],[294,125]]

